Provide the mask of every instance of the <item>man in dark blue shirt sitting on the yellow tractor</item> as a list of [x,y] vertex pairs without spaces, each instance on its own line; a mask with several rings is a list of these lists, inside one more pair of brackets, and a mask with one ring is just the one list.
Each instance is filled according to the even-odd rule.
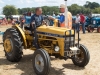
[[36,28],[41,26],[42,23],[43,23],[42,8],[38,7],[35,9],[35,14],[31,17],[31,31],[34,32],[33,46],[35,46],[37,49],[39,48],[39,45],[38,45],[38,36]]

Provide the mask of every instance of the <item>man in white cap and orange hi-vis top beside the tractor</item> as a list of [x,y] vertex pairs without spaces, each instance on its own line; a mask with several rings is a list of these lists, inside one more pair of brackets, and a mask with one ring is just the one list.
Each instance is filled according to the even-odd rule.
[[[66,27],[68,29],[72,29],[72,14],[68,11],[67,13],[65,13],[66,10],[66,6],[64,4],[60,5],[60,27]],[[67,26],[65,25],[65,14],[67,14]]]

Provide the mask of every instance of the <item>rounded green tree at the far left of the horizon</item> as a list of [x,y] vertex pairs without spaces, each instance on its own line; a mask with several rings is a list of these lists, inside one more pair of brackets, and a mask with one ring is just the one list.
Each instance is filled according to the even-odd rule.
[[16,14],[18,14],[18,11],[17,11],[15,6],[6,5],[6,6],[3,7],[3,14],[6,15],[6,16],[16,15]]

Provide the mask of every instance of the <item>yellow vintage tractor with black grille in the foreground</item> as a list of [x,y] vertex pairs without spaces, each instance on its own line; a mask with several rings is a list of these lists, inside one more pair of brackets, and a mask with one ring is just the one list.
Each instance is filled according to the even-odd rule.
[[[3,46],[5,56],[8,61],[19,62],[23,56],[23,50],[34,51],[32,65],[37,75],[48,75],[50,71],[50,56],[59,59],[71,59],[74,65],[85,67],[90,60],[88,49],[75,41],[75,30],[57,27],[57,20],[54,26],[41,25],[36,28],[36,32],[31,32],[24,26],[16,24],[7,29],[3,34]],[[38,36],[39,49],[33,46],[36,33]]]

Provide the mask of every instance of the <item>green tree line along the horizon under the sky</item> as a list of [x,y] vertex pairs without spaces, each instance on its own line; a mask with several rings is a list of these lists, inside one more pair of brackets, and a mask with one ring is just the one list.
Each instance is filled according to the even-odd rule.
[[[58,6],[43,6],[43,14],[44,15],[55,15],[59,14],[59,7]],[[86,15],[90,13],[100,13],[100,4],[96,2],[89,2],[87,1],[83,6],[78,4],[72,4],[68,6],[68,10],[72,13],[72,15],[76,15],[78,13],[84,13]],[[24,14],[26,12],[35,12],[35,8],[16,8],[13,5],[6,5],[3,7],[3,14],[6,16],[9,15],[16,15],[16,14]]]

